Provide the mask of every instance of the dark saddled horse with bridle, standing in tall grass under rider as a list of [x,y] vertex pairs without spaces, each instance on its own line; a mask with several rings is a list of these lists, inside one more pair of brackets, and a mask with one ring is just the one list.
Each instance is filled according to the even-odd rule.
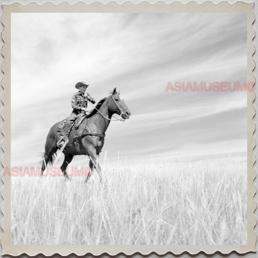
[[[95,168],[100,181],[102,182],[101,167],[98,163],[99,153],[104,145],[104,137],[106,129],[111,121],[113,114],[121,115],[121,121],[129,119],[131,112],[126,106],[124,100],[120,97],[120,93],[113,92],[104,99],[100,100],[96,107],[87,115],[79,127],[72,127],[68,136],[69,141],[63,149],[64,161],[61,165],[61,171],[66,179],[66,167],[71,163],[75,155],[88,155],[90,158],[91,171]],[[58,141],[60,139],[60,132],[58,126],[60,122],[55,123],[47,137],[45,152],[43,153],[41,175],[43,175],[47,164],[53,164],[57,157]],[[89,175],[86,179],[88,180]]]

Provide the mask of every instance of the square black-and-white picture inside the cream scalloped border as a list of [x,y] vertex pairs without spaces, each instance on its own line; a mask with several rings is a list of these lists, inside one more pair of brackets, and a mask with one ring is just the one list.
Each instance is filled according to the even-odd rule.
[[11,14],[11,244],[246,245],[246,13]]

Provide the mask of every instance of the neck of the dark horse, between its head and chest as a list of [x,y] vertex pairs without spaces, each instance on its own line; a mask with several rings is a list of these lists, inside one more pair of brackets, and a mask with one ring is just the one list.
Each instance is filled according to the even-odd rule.
[[[111,119],[114,112],[111,112],[108,108],[110,101],[113,101],[111,98],[107,98],[106,101],[99,108],[100,113],[108,119]],[[97,125],[99,133],[104,134],[110,123],[110,120],[104,118],[99,112],[93,115],[90,118],[91,123]]]

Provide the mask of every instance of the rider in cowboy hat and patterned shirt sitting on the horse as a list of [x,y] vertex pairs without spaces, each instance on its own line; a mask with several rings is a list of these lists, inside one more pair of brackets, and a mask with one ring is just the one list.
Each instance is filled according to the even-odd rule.
[[72,98],[72,107],[73,107],[73,112],[70,115],[70,117],[67,119],[65,122],[61,133],[60,133],[60,140],[58,142],[58,146],[62,147],[64,142],[68,142],[68,132],[71,126],[73,125],[74,121],[78,117],[79,114],[85,114],[87,111],[87,106],[88,106],[88,101],[90,101],[92,104],[95,104],[95,100],[88,94],[85,93],[87,88],[89,87],[90,84],[87,84],[86,82],[78,82],[76,83],[75,88],[78,89],[79,91],[76,92]]

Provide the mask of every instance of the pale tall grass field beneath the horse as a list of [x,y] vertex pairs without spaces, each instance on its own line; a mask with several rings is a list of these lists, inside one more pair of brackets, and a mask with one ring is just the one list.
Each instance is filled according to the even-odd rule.
[[12,244],[246,244],[246,160],[12,178]]

